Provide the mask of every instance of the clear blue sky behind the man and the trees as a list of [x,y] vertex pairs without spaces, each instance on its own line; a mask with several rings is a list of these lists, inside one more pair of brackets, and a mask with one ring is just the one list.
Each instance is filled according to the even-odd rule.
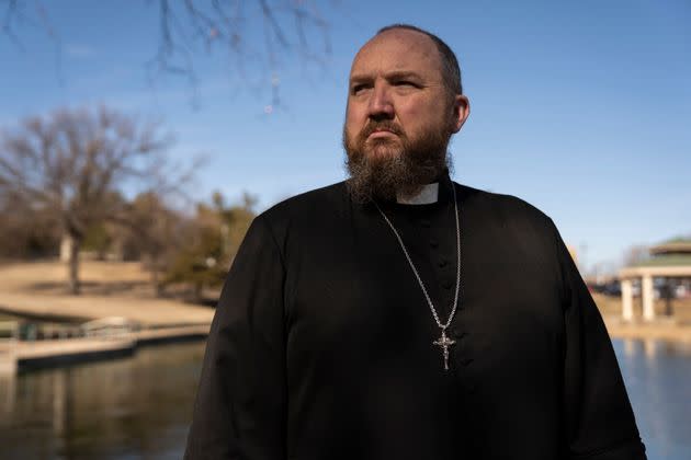
[[[35,2],[26,14],[38,21]],[[281,103],[261,61],[193,46],[197,97],[146,62],[156,2],[43,1],[45,28],[0,35],[0,126],[61,107],[106,104],[162,119],[171,156],[203,153],[194,195],[242,191],[265,208],[344,179],[340,146],[348,71],[381,26],[428,28],[456,51],[472,113],[452,142],[457,182],[519,196],[550,215],[586,268],[613,268],[626,248],[691,233],[691,3],[610,1],[322,1],[322,65],[280,51]],[[248,1],[248,43],[262,53]],[[4,2],[0,2],[3,12]],[[287,22],[290,30],[291,22]],[[291,35],[295,39],[295,35]],[[324,41],[308,35],[315,50]]]

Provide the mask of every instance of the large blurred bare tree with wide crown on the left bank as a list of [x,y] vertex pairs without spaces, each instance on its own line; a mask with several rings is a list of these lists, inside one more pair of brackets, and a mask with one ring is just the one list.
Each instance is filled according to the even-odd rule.
[[87,230],[117,220],[125,187],[165,189],[170,138],[117,112],[63,110],[0,133],[0,194],[50,212],[69,241],[69,288],[79,292]]

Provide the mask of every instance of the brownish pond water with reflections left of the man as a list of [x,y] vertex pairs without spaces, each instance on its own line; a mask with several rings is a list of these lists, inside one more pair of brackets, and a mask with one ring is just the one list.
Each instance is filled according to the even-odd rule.
[[180,458],[203,353],[169,345],[5,378],[1,446],[22,459]]

